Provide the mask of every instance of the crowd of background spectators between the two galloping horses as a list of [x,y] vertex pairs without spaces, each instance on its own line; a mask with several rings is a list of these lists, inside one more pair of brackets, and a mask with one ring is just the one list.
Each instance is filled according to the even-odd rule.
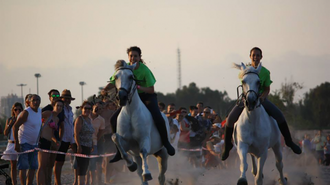
[[203,102],[196,106],[177,108],[174,103],[158,103],[159,109],[167,116],[173,147],[186,156],[194,167],[221,167],[220,156],[223,145],[225,121]]

